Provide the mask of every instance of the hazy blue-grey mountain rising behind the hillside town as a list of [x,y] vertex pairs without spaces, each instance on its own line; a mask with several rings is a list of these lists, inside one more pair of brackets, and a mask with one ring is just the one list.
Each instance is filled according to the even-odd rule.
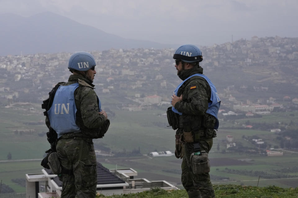
[[0,27],[0,56],[21,52],[35,54],[172,47],[153,41],[125,39],[51,12],[30,17],[1,14]]

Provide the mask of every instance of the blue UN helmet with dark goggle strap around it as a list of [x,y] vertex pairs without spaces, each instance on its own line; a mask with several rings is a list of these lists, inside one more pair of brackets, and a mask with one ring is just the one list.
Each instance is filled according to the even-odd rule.
[[201,62],[203,60],[201,50],[196,45],[189,44],[180,46],[173,58],[183,62]]

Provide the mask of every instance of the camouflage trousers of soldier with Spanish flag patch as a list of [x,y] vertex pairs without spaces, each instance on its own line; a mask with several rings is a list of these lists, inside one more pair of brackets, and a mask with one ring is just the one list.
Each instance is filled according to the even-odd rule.
[[[201,150],[210,151],[213,139],[203,138],[199,140]],[[193,174],[190,155],[194,152],[192,143],[184,144],[184,156],[182,160],[181,181],[189,198],[214,198],[214,190],[210,181],[209,173]]]

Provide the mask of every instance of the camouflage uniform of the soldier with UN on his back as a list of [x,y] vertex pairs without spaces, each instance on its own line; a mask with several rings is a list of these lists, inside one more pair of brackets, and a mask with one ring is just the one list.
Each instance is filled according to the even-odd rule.
[[[76,124],[82,132],[62,135],[56,145],[61,166],[73,174],[61,174],[61,197],[95,197],[97,185],[96,155],[92,138],[104,124],[104,115],[98,114],[94,85],[82,75],[70,75],[69,85],[79,82],[75,90]],[[46,119],[49,127],[49,122]]]

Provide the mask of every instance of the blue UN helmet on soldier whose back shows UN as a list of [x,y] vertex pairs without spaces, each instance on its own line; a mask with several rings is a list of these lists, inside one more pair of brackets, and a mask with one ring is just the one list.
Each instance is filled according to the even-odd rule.
[[88,71],[96,66],[95,60],[88,52],[76,52],[70,56],[68,69],[77,71]]

